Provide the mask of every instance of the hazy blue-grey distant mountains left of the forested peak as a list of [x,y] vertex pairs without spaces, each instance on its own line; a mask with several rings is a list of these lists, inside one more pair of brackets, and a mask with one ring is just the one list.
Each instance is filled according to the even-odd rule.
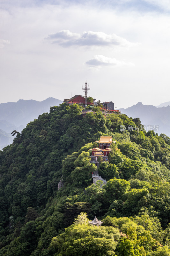
[[48,98],[43,101],[18,100],[0,104],[0,148],[4,148],[13,141],[11,132],[21,132],[26,124],[38,118],[44,112],[49,112],[50,107],[59,106],[62,100]]

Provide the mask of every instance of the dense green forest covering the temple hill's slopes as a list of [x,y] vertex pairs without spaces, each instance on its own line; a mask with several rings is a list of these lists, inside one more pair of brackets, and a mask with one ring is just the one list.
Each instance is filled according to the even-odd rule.
[[[92,110],[51,107],[0,151],[0,256],[170,256],[170,138]],[[100,136],[116,140],[104,186],[90,163]]]

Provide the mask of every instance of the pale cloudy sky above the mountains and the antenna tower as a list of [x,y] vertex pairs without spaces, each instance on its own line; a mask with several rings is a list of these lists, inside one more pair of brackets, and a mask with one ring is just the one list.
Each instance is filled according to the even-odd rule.
[[170,101],[170,0],[1,0],[0,103]]

